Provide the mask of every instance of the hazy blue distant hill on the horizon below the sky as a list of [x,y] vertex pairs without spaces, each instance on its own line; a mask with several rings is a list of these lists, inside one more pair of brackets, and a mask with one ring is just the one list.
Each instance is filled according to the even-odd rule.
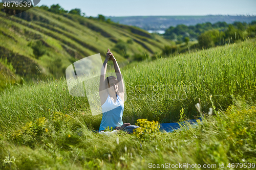
[[251,22],[256,20],[256,16],[233,16],[233,15],[206,15],[206,16],[125,16],[125,17],[107,17],[114,22],[119,22],[128,26],[136,26],[144,30],[165,30],[170,26],[184,24],[186,26],[195,26],[198,23],[205,22],[223,22],[233,23],[235,21]]

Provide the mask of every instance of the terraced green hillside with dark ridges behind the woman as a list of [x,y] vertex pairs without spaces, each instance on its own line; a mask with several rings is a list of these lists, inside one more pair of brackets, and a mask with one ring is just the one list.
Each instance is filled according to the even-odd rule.
[[139,28],[38,7],[10,17],[2,3],[0,9],[0,58],[7,58],[17,76],[26,79],[40,80],[40,74],[59,78],[71,63],[97,53],[104,58],[108,48],[122,66],[136,54],[152,56],[171,43]]

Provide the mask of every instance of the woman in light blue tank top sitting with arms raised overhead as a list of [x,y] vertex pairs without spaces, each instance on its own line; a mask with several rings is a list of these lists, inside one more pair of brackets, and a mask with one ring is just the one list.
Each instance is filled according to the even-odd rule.
[[[105,78],[106,66],[109,60],[114,63],[117,78],[114,76]],[[101,68],[99,96],[103,114],[99,132],[104,131],[109,127],[117,130],[126,130],[127,132],[132,133],[133,129],[139,128],[138,126],[134,126],[129,123],[123,124],[122,122],[124,109],[124,85],[120,68],[114,55],[109,49]]]

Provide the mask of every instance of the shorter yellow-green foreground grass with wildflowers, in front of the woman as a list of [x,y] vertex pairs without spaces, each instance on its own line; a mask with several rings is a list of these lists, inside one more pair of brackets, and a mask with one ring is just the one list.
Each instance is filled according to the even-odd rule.
[[[31,139],[29,133],[23,134],[25,143],[13,140],[12,133],[1,133],[0,168],[148,169],[155,164],[163,169],[167,163],[167,167],[173,165],[176,166],[173,169],[179,169],[179,164],[186,163],[201,168],[208,165],[212,169],[231,169],[233,163],[237,167],[233,169],[241,169],[241,164],[236,163],[242,163],[242,169],[253,169],[252,163],[255,167],[256,161],[255,113],[255,107],[243,99],[236,100],[226,112],[205,116],[194,128],[189,126],[189,130],[182,128],[174,133],[155,134],[146,141],[124,132],[101,135],[84,126],[79,136],[74,124],[80,122],[82,125],[83,122],[79,121],[82,117],[77,116],[57,132],[48,124],[45,128],[49,131],[41,129],[45,135],[40,138]],[[36,124],[34,121],[33,125]],[[39,126],[33,127],[40,130]],[[31,140],[34,145],[26,142]],[[251,168],[248,168],[249,163]],[[220,164],[224,164],[224,168],[220,168]]]

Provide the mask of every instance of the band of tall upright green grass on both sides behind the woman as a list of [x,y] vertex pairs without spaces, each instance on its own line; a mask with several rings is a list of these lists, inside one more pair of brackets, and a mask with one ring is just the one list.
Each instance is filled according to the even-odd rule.
[[[135,124],[138,118],[176,122],[182,108],[188,118],[194,118],[198,116],[194,106],[199,98],[202,110],[207,113],[210,95],[216,107],[223,109],[238,95],[255,100],[255,55],[254,42],[245,42],[124,68],[124,122]],[[0,126],[6,129],[9,125],[48,117],[52,111],[90,116],[87,99],[71,96],[62,78],[5,90],[0,99]],[[100,119],[98,116],[97,123],[88,125],[97,129]]]

